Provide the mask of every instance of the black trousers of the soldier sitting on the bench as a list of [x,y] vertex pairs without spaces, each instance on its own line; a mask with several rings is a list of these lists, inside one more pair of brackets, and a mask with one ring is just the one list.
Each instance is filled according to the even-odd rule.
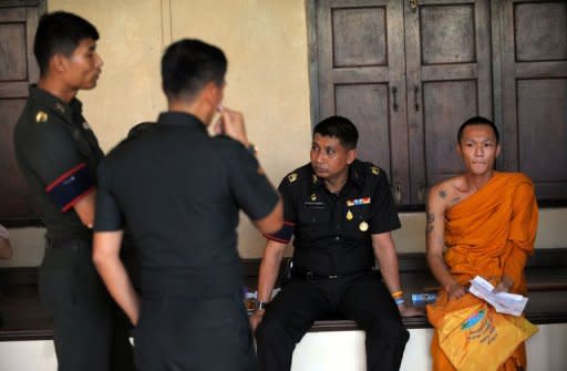
[[338,313],[365,331],[368,370],[399,370],[410,333],[378,274],[352,278],[293,278],[268,306],[256,329],[262,371],[291,368],[296,343],[313,321]]

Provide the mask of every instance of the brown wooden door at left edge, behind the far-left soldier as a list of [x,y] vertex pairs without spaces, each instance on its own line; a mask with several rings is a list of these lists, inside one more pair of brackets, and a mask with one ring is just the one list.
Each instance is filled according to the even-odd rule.
[[38,80],[33,38],[43,7],[40,1],[0,2],[0,218],[37,218],[13,151],[13,127]]

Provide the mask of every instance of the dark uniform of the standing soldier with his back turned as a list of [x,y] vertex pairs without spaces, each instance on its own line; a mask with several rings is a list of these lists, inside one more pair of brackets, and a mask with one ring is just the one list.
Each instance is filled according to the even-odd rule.
[[127,223],[140,254],[138,370],[255,370],[236,249],[239,209],[268,216],[278,195],[240,143],[197,117],[163,113],[99,171],[96,231]]

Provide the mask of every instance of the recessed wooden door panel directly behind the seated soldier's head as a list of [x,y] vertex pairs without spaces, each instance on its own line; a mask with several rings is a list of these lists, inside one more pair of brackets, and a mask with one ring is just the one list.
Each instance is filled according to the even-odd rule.
[[359,125],[359,157],[380,164],[391,174],[391,142],[388,125],[388,84],[337,85],[337,114]]

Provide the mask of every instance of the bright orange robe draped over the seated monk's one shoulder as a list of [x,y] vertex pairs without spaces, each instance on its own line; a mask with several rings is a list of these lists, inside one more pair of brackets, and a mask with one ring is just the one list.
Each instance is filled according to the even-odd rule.
[[[461,285],[468,286],[475,276],[493,285],[503,275],[514,280],[511,292],[525,295],[524,267],[534,251],[537,230],[537,204],[532,181],[519,173],[495,173],[478,192],[445,213],[445,262]],[[471,307],[481,299],[471,293],[449,300],[441,290],[435,303],[427,306],[427,318],[436,329],[443,317]],[[455,370],[439,346],[435,331],[431,347],[433,370]],[[526,368],[522,343],[498,370]]]

